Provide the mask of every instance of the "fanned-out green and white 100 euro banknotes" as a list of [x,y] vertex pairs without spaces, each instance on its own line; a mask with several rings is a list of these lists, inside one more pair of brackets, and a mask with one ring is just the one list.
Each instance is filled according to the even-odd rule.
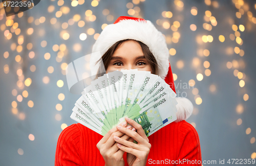
[[129,117],[149,136],[177,119],[175,97],[169,85],[151,72],[116,70],[84,88],[70,117],[103,136]]

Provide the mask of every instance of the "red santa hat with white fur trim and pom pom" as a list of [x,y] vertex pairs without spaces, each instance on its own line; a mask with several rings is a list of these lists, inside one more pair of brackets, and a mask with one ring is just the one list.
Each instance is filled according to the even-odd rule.
[[[99,51],[103,55],[117,41],[125,39],[141,41],[148,46],[157,61],[158,75],[176,92],[165,38],[150,20],[129,16],[118,17],[100,33],[92,52]],[[186,98],[176,98],[176,100],[178,102],[176,122],[186,120],[193,112],[193,104]]]

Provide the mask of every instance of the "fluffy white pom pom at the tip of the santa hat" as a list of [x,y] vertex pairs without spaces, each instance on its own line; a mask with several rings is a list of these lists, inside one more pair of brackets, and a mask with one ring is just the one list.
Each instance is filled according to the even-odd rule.
[[193,104],[186,98],[176,98],[178,104],[176,105],[177,120],[175,122],[180,122],[186,120],[193,112]]

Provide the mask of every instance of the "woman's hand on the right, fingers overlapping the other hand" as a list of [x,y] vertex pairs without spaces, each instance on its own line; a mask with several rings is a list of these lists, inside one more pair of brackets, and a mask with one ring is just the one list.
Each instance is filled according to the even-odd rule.
[[[146,165],[148,153],[150,153],[151,144],[142,129],[141,125],[136,123],[134,120],[125,117],[125,121],[132,125],[135,129],[128,130],[125,127],[117,126],[117,129],[130,136],[129,140],[124,140],[117,136],[114,137],[115,141],[118,143],[117,147],[124,152],[127,152],[127,162],[131,166]],[[138,144],[134,144],[133,140],[136,140]]]

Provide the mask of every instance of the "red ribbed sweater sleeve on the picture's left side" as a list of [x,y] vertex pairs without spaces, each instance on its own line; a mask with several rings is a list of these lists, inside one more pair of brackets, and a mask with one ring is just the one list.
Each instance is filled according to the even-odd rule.
[[81,131],[77,124],[73,124],[64,129],[58,138],[55,153],[55,166],[75,166],[83,165]]

